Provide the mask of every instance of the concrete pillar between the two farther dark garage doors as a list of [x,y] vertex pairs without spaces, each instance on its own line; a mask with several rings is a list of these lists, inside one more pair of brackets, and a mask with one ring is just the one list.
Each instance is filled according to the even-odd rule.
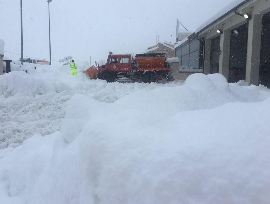
[[229,79],[230,67],[230,29],[224,30],[220,36],[219,73]]

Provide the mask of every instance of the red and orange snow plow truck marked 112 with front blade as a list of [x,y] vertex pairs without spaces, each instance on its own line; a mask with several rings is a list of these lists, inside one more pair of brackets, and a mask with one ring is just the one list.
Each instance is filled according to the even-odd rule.
[[117,79],[142,80],[144,83],[157,82],[161,79],[173,80],[171,67],[166,62],[165,53],[138,54],[133,59],[131,54],[114,55],[109,52],[105,65],[98,70],[85,71],[91,79],[104,79],[114,82]]

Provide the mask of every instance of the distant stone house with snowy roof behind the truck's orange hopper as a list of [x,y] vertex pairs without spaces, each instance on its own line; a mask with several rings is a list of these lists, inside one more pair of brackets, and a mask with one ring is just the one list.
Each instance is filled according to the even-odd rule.
[[148,47],[148,50],[146,50],[143,54],[146,53],[165,53],[167,58],[171,58],[174,57],[174,45],[167,42],[157,43],[156,45]]

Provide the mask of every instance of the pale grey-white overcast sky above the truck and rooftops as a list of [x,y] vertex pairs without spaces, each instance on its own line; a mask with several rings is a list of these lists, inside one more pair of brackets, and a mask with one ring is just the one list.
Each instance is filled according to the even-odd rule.
[[[50,3],[52,60],[106,60],[114,53],[140,53],[159,41],[175,42],[176,19],[190,31],[234,0],[53,0]],[[203,3],[202,3],[203,2]],[[5,51],[21,54],[20,0],[0,0],[0,39]],[[181,26],[180,26],[181,27]],[[23,0],[24,55],[49,59],[47,0]],[[6,57],[20,56],[5,52]],[[58,64],[58,62],[53,62]]]

